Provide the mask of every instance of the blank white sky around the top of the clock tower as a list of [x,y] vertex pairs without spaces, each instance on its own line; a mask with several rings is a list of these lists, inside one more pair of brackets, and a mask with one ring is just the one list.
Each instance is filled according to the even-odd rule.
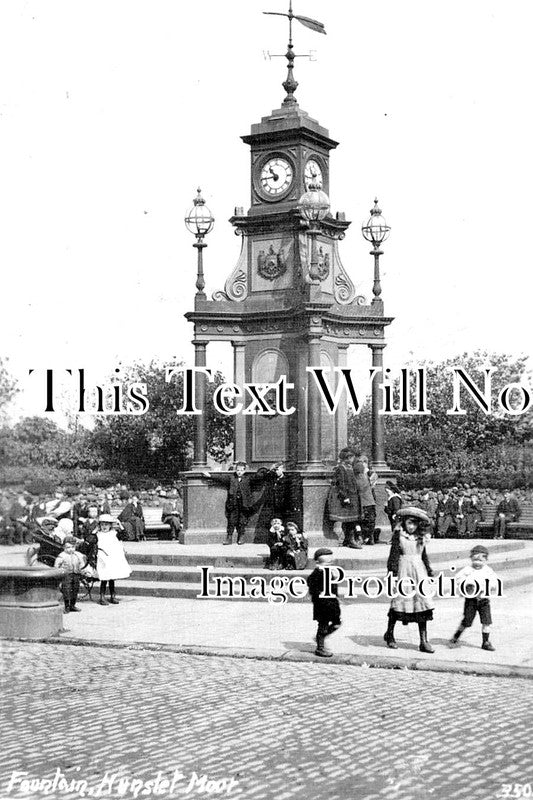
[[[215,217],[208,296],[250,204],[240,136],[284,97],[288,0],[4,0],[0,4],[0,342],[19,413],[44,410],[41,372],[174,358],[193,363],[196,251],[183,219],[197,186]],[[294,0],[300,106],[340,142],[333,213],[357,291],[375,196],[386,362],[531,352],[533,219],[527,0],[363,4]],[[364,351],[364,352],[361,352]],[[229,369],[229,345],[208,363]],[[350,366],[366,369],[368,348]]]

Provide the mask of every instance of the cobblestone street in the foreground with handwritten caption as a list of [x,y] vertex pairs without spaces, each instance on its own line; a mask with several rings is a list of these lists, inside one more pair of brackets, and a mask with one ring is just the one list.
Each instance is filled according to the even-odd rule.
[[1,657],[1,800],[530,796],[531,681],[37,643]]

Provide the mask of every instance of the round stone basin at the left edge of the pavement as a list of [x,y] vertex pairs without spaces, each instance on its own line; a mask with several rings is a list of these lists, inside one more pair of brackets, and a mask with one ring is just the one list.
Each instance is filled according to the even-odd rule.
[[0,637],[43,639],[63,627],[62,572],[44,566],[0,567]]

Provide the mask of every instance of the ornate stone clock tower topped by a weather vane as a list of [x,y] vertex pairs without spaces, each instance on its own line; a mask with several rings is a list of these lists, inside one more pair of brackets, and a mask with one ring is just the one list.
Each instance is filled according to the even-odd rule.
[[[299,19],[292,11],[283,16],[291,23]],[[207,363],[209,341],[227,341],[233,346],[238,386],[275,383],[282,376],[293,384],[289,404],[295,413],[235,416],[234,458],[252,470],[285,462],[301,479],[304,529],[319,541],[331,465],[346,446],[347,407],[344,400],[329,414],[307,368],[324,367],[334,390],[334,368],[347,366],[348,347],[355,343],[370,347],[373,365],[381,366],[384,328],[391,319],[384,316],[379,295],[367,303],[357,293],[341,262],[339,242],[350,223],[329,206],[330,154],[338,143],[298,105],[292,36],[286,56],[281,107],[242,137],[250,148],[250,207],[246,213],[236,208],[230,219],[241,238],[237,263],[212,299],[198,291],[194,311],[186,317],[194,324],[197,366]],[[377,415],[375,423],[374,438],[381,440]],[[201,477],[205,415],[195,417],[195,425],[193,470],[186,476],[186,537],[209,541],[216,514]],[[382,441],[377,445],[374,468],[386,469]],[[219,501],[219,516],[223,505]],[[215,527],[223,530],[223,516]],[[263,540],[265,533],[257,530],[256,538]],[[220,539],[216,535],[213,540]]]

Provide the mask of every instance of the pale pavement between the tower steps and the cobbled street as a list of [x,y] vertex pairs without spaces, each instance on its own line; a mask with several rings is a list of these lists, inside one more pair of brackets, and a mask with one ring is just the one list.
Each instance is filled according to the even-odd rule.
[[[449,550],[450,542],[434,542]],[[466,542],[462,544],[467,549]],[[130,545],[131,547],[131,545]],[[157,551],[157,543],[140,543],[136,549]],[[180,547],[179,545],[177,547]],[[207,545],[213,550],[216,545]],[[227,551],[231,548],[222,548]],[[238,548],[242,551],[243,548]],[[24,548],[3,548],[15,559]],[[363,556],[376,558],[385,548],[366,548]],[[165,552],[168,551],[168,543]],[[2,553],[0,552],[0,557]],[[5,563],[5,561],[4,561]],[[117,583],[120,594],[120,582]],[[505,591],[505,583],[504,583]],[[97,592],[95,592],[97,596]],[[247,657],[315,660],[310,603],[270,603],[243,600],[160,599],[127,596],[120,605],[80,603],[79,614],[64,616],[63,641],[121,645],[161,645],[189,650]],[[479,620],[462,638],[459,648],[450,650],[447,641],[462,612],[460,599],[436,601],[435,619],[428,631],[435,647],[433,655],[420,653],[416,626],[398,625],[398,650],[383,642],[387,605],[351,602],[343,604],[343,626],[328,640],[334,660],[375,666],[406,666],[418,669],[515,674],[533,677],[533,589],[511,588],[506,596],[492,601],[492,641],[496,651],[481,650]]]

